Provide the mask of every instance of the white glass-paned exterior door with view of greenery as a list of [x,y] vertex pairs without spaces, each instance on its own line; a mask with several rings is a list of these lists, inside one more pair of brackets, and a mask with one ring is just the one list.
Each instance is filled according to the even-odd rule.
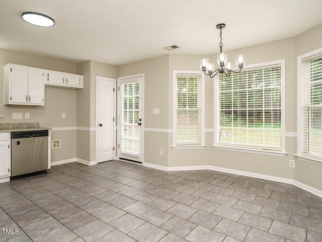
[[118,79],[120,160],[143,162],[143,75]]

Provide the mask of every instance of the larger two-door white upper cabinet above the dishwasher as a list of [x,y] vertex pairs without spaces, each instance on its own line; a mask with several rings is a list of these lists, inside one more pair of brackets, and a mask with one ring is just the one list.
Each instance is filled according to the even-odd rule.
[[44,105],[44,71],[14,64],[5,66],[5,104]]

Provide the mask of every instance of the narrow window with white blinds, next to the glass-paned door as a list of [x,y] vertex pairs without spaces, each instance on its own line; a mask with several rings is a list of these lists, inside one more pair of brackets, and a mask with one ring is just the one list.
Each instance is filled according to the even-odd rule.
[[204,145],[204,74],[174,71],[174,147]]

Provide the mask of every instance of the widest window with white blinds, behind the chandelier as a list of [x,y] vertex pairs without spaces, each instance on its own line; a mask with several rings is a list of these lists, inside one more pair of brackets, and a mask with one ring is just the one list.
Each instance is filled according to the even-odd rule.
[[246,66],[215,83],[215,146],[285,152],[284,61]]

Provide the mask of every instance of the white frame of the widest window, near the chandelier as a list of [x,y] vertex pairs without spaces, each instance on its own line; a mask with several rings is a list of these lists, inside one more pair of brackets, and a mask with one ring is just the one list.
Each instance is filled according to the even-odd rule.
[[[272,62],[257,63],[252,65],[246,65],[244,70],[247,69],[264,69],[269,66],[281,66],[281,150],[271,150],[264,147],[254,147],[247,145],[238,145],[238,144],[220,144],[219,143],[219,76],[213,78],[214,82],[214,144],[212,147],[214,149],[220,150],[229,150],[229,151],[239,151],[247,153],[257,153],[257,154],[269,154],[277,156],[285,156],[287,153],[285,151],[285,59],[280,59]],[[234,68],[234,70],[238,70]]]

